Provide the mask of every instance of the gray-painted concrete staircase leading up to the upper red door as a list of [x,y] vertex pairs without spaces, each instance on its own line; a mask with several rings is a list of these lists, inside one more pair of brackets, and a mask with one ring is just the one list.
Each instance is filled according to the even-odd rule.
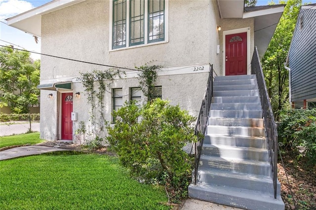
[[284,210],[273,179],[255,75],[217,76],[197,185],[189,196],[250,210]]

